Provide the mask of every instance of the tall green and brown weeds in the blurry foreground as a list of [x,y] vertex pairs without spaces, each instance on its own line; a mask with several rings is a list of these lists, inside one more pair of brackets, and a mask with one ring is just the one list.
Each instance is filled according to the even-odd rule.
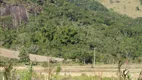
[[[61,66],[55,66],[52,63],[44,64],[44,72],[35,72],[33,70],[33,63],[30,62],[25,70],[16,70],[13,68],[12,61],[9,60],[4,64],[4,70],[0,72],[0,79],[4,80],[132,80],[133,77],[129,76],[130,73],[127,69],[122,70],[123,62],[119,61],[117,77],[103,77],[102,74],[88,76],[82,73],[80,76],[60,75],[62,70]],[[92,73],[93,74],[93,73]],[[142,79],[142,71],[137,80]]]

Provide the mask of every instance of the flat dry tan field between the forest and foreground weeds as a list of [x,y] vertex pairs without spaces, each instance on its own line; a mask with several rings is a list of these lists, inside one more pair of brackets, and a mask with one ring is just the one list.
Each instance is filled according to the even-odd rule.
[[[126,67],[126,65],[123,65],[122,70]],[[61,66],[62,70],[59,73],[60,76],[63,77],[69,77],[72,76],[73,78],[79,78],[84,77],[82,75],[85,75],[88,78],[94,78],[93,76],[99,76],[101,78],[114,78],[117,77],[117,65],[96,65],[95,68],[91,68],[90,65],[88,66]],[[134,80],[136,80],[139,77],[139,73],[141,71],[142,65],[140,64],[133,64],[129,65],[129,71],[131,76]],[[17,71],[23,71],[27,69],[27,66],[22,67],[14,67]],[[48,68],[44,68],[41,66],[34,66],[33,71],[36,74],[42,74],[42,76],[48,75]],[[56,67],[52,68],[53,73],[56,73]],[[3,71],[3,68],[0,68],[1,71]],[[89,77],[90,76],[90,77]],[[88,80],[92,80],[92,79]],[[41,79],[42,80],[42,79]],[[73,79],[73,80],[80,80],[80,79]],[[106,79],[107,80],[107,79]],[[112,79],[109,79],[112,80]]]

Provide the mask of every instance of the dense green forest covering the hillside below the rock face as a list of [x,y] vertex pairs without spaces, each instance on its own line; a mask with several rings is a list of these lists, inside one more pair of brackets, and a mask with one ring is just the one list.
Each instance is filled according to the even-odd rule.
[[118,14],[96,0],[23,2],[34,3],[43,11],[30,14],[26,25],[0,27],[1,47],[86,63],[92,63],[96,48],[97,62],[142,61],[142,18]]

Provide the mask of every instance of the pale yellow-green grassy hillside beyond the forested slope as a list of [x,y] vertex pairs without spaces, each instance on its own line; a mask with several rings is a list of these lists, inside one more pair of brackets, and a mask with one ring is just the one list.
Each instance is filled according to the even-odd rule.
[[108,9],[132,18],[142,17],[142,5],[140,0],[98,0]]

